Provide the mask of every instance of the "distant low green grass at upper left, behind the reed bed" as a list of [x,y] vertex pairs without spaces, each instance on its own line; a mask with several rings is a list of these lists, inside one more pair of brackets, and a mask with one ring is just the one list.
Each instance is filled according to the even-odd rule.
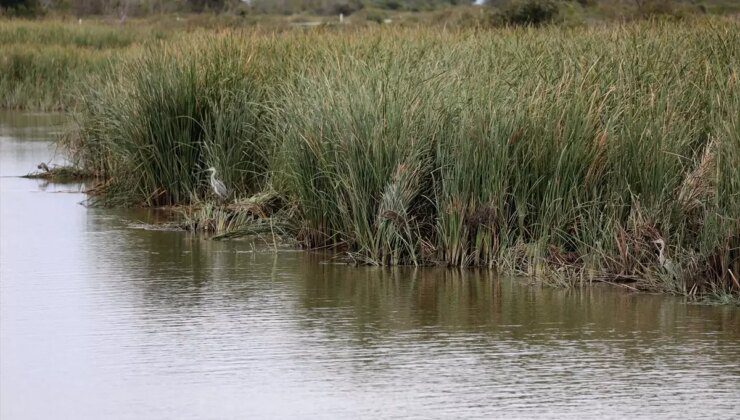
[[0,21],[0,107],[64,110],[90,76],[109,73],[141,45],[173,31],[104,21]]

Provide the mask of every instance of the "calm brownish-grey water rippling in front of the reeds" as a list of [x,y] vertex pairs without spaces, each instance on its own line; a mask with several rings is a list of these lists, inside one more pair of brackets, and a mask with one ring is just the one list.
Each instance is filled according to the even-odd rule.
[[16,177],[59,121],[0,114],[3,420],[740,413],[737,308],[143,230]]

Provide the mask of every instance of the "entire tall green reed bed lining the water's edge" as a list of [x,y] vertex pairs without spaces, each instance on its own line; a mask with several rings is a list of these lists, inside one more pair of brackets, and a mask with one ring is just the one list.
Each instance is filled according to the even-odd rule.
[[109,199],[187,203],[216,166],[367,263],[737,294],[739,29],[194,37],[85,95],[70,144]]

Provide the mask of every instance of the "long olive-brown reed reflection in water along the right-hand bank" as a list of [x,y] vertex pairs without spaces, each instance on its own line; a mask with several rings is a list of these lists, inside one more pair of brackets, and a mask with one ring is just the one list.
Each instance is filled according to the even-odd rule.
[[[301,305],[315,316],[342,308],[355,328],[383,330],[437,327],[506,331],[512,338],[578,336],[613,338],[634,332],[686,327],[701,334],[716,313],[737,331],[737,311],[684,305],[665,296],[635,295],[611,287],[553,289],[520,279],[497,278],[489,270],[378,268],[301,265]],[[702,322],[686,323],[691,312]],[[327,324],[332,324],[327,319]],[[591,331],[592,330],[592,331]]]

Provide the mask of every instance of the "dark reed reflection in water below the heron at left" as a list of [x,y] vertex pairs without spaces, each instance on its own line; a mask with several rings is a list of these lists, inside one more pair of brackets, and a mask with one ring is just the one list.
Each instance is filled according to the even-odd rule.
[[[138,289],[147,305],[195,308],[204,297],[213,295],[224,302],[238,302],[273,287],[266,281],[275,276],[277,256],[273,252],[261,252],[248,242],[218,242],[183,232],[130,227],[163,217],[161,213],[126,211],[114,216],[90,219],[91,230],[105,232],[107,237],[104,246],[90,248],[93,258],[109,261],[114,255],[116,276]],[[291,270],[289,264],[284,268]],[[113,267],[103,270],[110,277],[108,270]]]

